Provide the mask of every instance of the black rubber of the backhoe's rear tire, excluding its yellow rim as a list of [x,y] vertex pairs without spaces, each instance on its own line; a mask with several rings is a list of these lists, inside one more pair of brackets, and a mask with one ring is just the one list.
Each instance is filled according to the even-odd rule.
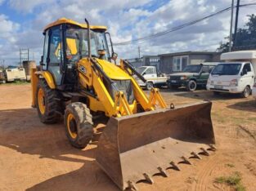
[[[39,88],[43,89],[44,97],[45,97],[45,113],[42,114],[38,107],[38,90]],[[38,116],[40,121],[46,124],[56,123],[60,120],[61,116],[57,113],[59,110],[59,103],[56,100],[58,98],[58,94],[56,90],[52,90],[48,85],[45,79],[41,78],[38,82],[38,88],[36,93],[36,106],[38,109]]]

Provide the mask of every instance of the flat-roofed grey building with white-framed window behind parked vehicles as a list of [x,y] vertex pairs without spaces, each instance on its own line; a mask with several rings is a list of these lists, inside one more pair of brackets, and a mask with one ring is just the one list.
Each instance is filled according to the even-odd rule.
[[183,51],[159,55],[159,71],[161,73],[177,73],[189,64],[220,61],[219,52]]

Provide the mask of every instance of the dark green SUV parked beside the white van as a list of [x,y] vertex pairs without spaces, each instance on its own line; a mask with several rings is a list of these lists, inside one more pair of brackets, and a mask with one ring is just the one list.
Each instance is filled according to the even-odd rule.
[[196,87],[206,86],[209,73],[218,63],[202,63],[187,65],[182,73],[172,73],[168,78],[168,87],[186,87],[187,91],[195,91]]

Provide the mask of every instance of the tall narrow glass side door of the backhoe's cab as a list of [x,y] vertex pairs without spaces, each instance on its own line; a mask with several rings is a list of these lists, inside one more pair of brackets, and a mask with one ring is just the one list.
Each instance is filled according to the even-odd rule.
[[63,64],[63,44],[61,37],[61,26],[49,30],[49,53],[47,57],[47,70],[52,73],[56,86],[61,85]]

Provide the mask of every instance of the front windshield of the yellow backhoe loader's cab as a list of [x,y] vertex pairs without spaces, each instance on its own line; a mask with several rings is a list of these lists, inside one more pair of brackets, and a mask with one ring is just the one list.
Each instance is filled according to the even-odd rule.
[[[104,30],[91,29],[91,54],[92,57],[99,57],[98,51],[105,51],[102,59],[110,60],[110,53],[106,42]],[[81,58],[88,57],[88,29],[81,29],[68,25],[65,32],[66,55],[71,62],[77,62]]]

